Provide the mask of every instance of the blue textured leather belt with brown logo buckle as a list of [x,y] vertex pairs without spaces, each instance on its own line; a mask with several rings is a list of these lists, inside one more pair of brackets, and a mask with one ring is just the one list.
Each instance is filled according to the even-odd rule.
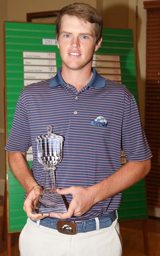
[[[112,222],[117,218],[116,211],[109,214],[98,217],[99,229],[108,228],[112,225]],[[32,220],[36,222],[36,220]],[[60,233],[67,235],[75,235],[77,233],[86,233],[88,231],[96,230],[96,219],[82,220],[82,221],[66,221],[66,220],[55,220],[52,218],[44,218],[40,220],[40,225],[57,229]]]

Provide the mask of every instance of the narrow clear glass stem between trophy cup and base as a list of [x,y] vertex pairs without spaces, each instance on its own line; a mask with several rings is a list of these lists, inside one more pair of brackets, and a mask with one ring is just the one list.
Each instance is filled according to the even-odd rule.
[[45,186],[44,186],[44,189],[56,190],[56,181],[55,181],[55,175],[54,175],[55,169],[56,169],[55,166],[52,166],[52,167],[45,166],[45,168],[44,168],[44,170],[45,170]]

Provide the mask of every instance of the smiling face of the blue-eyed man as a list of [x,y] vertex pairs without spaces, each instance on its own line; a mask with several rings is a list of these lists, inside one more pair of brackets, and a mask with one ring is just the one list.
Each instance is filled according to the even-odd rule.
[[59,31],[58,48],[65,65],[71,70],[79,70],[92,65],[92,58],[101,40],[96,43],[94,24],[64,15]]

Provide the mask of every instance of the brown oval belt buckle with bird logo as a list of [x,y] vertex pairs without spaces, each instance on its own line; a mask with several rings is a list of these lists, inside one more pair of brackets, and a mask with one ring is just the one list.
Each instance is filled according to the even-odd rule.
[[71,221],[58,220],[57,221],[57,230],[59,233],[66,235],[76,235],[77,234],[77,225]]

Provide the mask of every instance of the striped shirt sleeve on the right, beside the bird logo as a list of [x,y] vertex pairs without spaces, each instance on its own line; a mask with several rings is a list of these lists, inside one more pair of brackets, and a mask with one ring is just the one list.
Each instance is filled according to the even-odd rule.
[[122,149],[127,161],[143,161],[152,157],[133,96],[129,97],[124,104]]

